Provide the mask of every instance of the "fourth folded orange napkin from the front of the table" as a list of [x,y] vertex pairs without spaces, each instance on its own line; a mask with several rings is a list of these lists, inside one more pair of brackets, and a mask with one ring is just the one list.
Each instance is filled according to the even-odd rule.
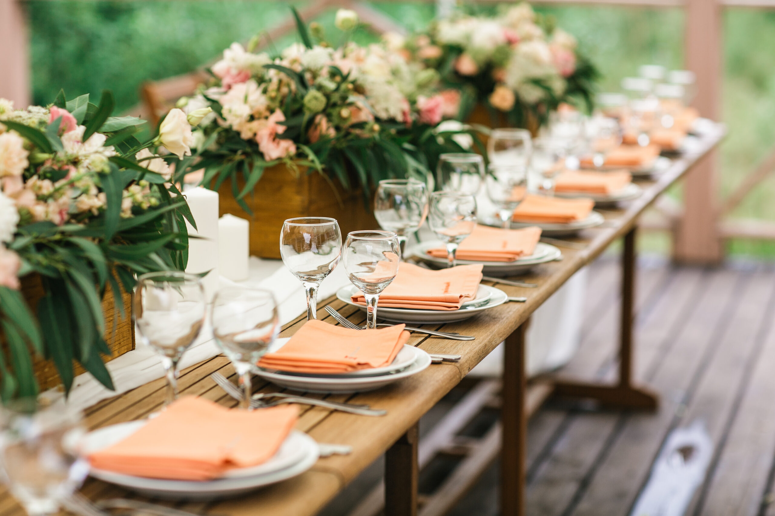
[[[461,260],[515,261],[532,255],[540,238],[540,227],[497,229],[477,225],[474,232],[460,243],[456,256]],[[428,254],[446,258],[446,249],[429,249]]]

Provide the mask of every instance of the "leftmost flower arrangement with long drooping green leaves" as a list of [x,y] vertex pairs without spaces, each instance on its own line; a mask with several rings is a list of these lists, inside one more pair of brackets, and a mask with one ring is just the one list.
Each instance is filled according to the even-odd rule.
[[[74,362],[108,388],[102,298],[112,290],[123,316],[122,289],[137,274],[183,269],[192,225],[167,161],[166,145],[191,150],[185,114],[169,115],[159,135],[141,142],[139,118],[111,117],[113,98],[88,95],[47,108],[14,109],[0,99],[0,396],[35,395],[33,354],[53,361],[64,388]],[[181,118],[182,116],[182,118]],[[163,151],[164,152],[164,151]],[[43,297],[28,306],[20,284],[40,276]],[[21,281],[20,281],[21,280]],[[120,285],[119,285],[120,284]]]

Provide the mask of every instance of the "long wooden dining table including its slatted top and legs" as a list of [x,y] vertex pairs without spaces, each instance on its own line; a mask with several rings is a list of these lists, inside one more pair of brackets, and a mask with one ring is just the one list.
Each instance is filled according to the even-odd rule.
[[[385,514],[409,516],[417,512],[418,479],[418,420],[436,402],[449,392],[466,374],[505,340],[505,362],[501,387],[501,426],[491,433],[489,453],[498,453],[500,438],[502,486],[501,514],[523,514],[525,487],[525,434],[526,422],[546,397],[556,393],[584,398],[595,398],[605,405],[629,408],[656,408],[658,399],[646,388],[632,381],[632,319],[634,271],[636,266],[636,223],[646,207],[673,185],[687,170],[713,149],[725,135],[723,125],[717,125],[712,134],[701,139],[695,152],[675,159],[659,179],[640,183],[643,195],[621,210],[601,210],[604,225],[586,230],[570,241],[584,244],[583,249],[563,248],[563,259],[540,265],[532,274],[522,276],[538,283],[535,289],[506,285],[498,288],[510,296],[526,296],[525,303],[508,302],[460,323],[432,325],[433,329],[456,331],[474,335],[474,341],[445,340],[412,334],[409,341],[429,353],[460,354],[457,363],[433,364],[431,367],[387,388],[357,395],[328,395],[322,398],[334,401],[367,403],[374,408],[387,409],[380,418],[363,417],[331,412],[322,408],[306,408],[299,419],[298,429],[308,432],[321,443],[341,443],[353,446],[348,456],[322,458],[298,477],[275,484],[252,494],[232,500],[212,503],[179,503],[177,507],[200,513],[243,514],[260,516],[304,516],[317,513],[382,453],[385,465]],[[525,374],[525,329],[530,315],[575,272],[598,257],[619,238],[624,239],[622,252],[622,318],[619,380],[613,385],[580,384],[565,379],[551,379],[528,386]],[[572,245],[572,244],[569,244]],[[575,247],[575,246],[574,246]],[[330,304],[355,323],[363,323],[360,310],[346,306],[334,298],[320,303],[319,316],[327,316],[322,306]],[[325,317],[329,320],[328,317]],[[304,322],[299,317],[284,327],[281,337],[290,337]],[[199,395],[226,406],[236,406],[208,375],[221,371],[229,377],[234,371],[228,359],[219,356],[189,367],[179,381],[183,395]],[[270,384],[259,384],[262,391],[275,391]],[[87,411],[91,428],[143,418],[160,408],[164,402],[164,378],[105,400]],[[493,453],[493,449],[495,452]],[[487,464],[481,466],[484,469]],[[436,497],[424,505],[422,516],[443,514],[459,497],[466,479],[454,478],[446,490],[447,496]],[[89,480],[84,494],[98,499],[105,497],[132,497],[125,490],[97,480]],[[21,507],[7,493],[0,494],[0,516],[23,514]]]

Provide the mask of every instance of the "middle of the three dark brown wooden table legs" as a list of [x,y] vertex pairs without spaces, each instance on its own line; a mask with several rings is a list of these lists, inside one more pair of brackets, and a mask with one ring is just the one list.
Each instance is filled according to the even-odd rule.
[[503,388],[501,391],[501,514],[525,514],[525,439],[527,414],[525,394],[525,332],[522,323],[505,341]]

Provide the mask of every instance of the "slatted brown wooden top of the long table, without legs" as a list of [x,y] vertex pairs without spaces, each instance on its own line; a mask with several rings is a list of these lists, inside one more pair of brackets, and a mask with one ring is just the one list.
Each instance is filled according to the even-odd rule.
[[[674,159],[670,168],[657,179],[639,182],[644,190],[639,199],[626,203],[622,209],[600,210],[605,216],[605,224],[584,230],[578,237],[568,240],[585,244],[583,249],[558,246],[563,251],[561,261],[539,265],[529,275],[519,277],[519,279],[537,283],[539,285],[537,288],[525,289],[497,285],[509,296],[527,297],[527,302],[507,302],[459,323],[428,325],[434,330],[443,329],[474,335],[476,340],[446,340],[412,334],[410,344],[429,353],[460,354],[462,358],[459,362],[432,364],[425,371],[411,378],[405,378],[377,391],[356,395],[312,395],[339,402],[367,403],[374,408],[387,409],[387,415],[376,418],[364,417],[300,405],[305,410],[301,412],[297,428],[307,432],[320,443],[353,446],[353,453],[350,455],[321,458],[308,472],[245,496],[206,503],[162,503],[188,511],[229,516],[316,514],[339,490],[384,453],[425,412],[443,398],[475,365],[525,322],[570,276],[597,258],[613,241],[630,231],[643,210],[680,179],[688,169],[691,169],[699,159],[714,149],[724,135],[725,127],[721,124],[716,125],[713,132],[701,138],[694,152]],[[348,316],[354,323],[363,323],[365,319],[359,309],[331,298],[321,302],[318,309],[319,316],[325,316],[323,319],[329,322],[328,314],[322,310],[322,306],[327,304]],[[297,320],[288,323],[284,326],[281,337],[291,337],[304,320],[305,316],[300,316]],[[236,401],[226,396],[209,378],[209,374],[215,371],[220,371],[232,380],[234,378],[229,360],[222,356],[213,357],[181,372],[179,381],[181,395],[198,395],[225,406],[236,406]],[[277,391],[277,387],[258,378],[255,379],[254,384],[260,387],[261,391]],[[164,388],[165,380],[160,378],[123,395],[99,402],[86,411],[86,422],[91,429],[94,429],[146,417],[151,412],[157,411],[163,404]],[[112,484],[91,479],[86,482],[82,492],[93,499],[135,497],[132,493]],[[22,516],[24,511],[7,490],[2,490],[0,491],[0,516],[11,514]]]

